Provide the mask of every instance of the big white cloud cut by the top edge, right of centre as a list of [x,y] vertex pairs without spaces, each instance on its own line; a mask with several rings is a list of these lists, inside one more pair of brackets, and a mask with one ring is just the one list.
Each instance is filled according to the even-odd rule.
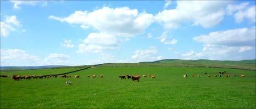
[[230,1],[177,1],[175,9],[160,11],[154,19],[165,29],[178,28],[183,23],[209,28],[222,21],[228,3]]

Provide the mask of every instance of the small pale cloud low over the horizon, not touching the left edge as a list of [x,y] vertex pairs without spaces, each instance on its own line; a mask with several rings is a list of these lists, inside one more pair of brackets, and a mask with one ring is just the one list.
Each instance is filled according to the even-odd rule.
[[69,62],[68,54],[50,53],[48,57],[44,58],[44,61],[48,65],[65,65]]

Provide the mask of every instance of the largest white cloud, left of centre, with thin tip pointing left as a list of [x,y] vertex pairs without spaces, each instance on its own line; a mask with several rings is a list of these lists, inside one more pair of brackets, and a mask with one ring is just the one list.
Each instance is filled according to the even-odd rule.
[[77,53],[102,52],[114,50],[125,39],[143,33],[153,22],[153,15],[145,11],[128,7],[103,7],[94,11],[75,11],[67,17],[49,16],[49,19],[80,25],[82,29],[94,28],[97,33],[90,33],[83,43],[79,44]]

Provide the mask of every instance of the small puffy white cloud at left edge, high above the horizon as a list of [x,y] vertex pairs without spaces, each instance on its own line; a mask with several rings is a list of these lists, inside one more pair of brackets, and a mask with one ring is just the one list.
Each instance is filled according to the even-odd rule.
[[9,33],[16,30],[16,27],[21,27],[20,22],[16,16],[5,16],[5,20],[0,22],[1,37],[8,37]]

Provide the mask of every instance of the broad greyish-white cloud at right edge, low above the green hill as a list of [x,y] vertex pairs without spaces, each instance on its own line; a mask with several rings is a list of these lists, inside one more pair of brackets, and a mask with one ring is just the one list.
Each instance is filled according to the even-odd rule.
[[[194,37],[194,40],[204,43],[202,50],[204,58],[232,60],[255,58],[255,51],[252,51],[255,48],[255,27],[211,32]],[[244,54],[243,52],[246,51],[254,54]]]

